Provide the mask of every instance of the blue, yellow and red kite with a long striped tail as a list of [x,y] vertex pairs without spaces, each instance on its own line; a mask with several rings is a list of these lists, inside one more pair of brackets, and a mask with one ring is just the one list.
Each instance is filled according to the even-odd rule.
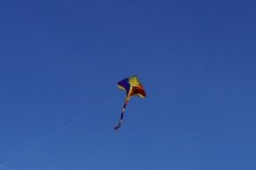
[[126,91],[127,97],[125,99],[125,104],[122,108],[121,116],[119,119],[119,124],[115,127],[115,130],[118,130],[119,127],[121,126],[121,123],[123,121],[123,116],[125,113],[126,106],[128,105],[128,101],[130,98],[134,96],[138,96],[140,98],[146,98],[146,92],[142,84],[136,76],[131,76],[127,79],[124,79],[122,81],[118,82],[118,88]]

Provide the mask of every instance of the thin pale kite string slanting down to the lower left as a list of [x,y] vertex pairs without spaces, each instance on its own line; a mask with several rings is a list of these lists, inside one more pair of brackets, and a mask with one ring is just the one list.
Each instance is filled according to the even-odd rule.
[[13,162],[14,159],[18,158],[18,157],[22,157],[23,155],[25,155],[26,153],[28,153],[29,151],[31,151],[32,149],[35,149],[36,147],[40,146],[42,143],[46,142],[47,140],[49,140],[51,137],[57,135],[57,133],[59,132],[63,132],[64,130],[66,130],[66,128],[70,127],[71,125],[73,125],[74,123],[77,123],[79,121],[81,121],[82,119],[84,119],[85,116],[92,114],[93,112],[95,112],[96,110],[102,108],[102,106],[107,105],[108,103],[110,103],[110,101],[112,101],[113,99],[117,98],[118,95],[115,95],[113,98],[108,98],[105,102],[103,102],[101,105],[94,107],[93,109],[91,109],[90,111],[86,112],[84,115],[81,115],[80,117],[78,117],[77,119],[75,119],[74,121],[70,122],[70,123],[66,123],[66,125],[64,125],[63,127],[57,129],[57,131],[50,133],[48,136],[46,136],[45,138],[39,140],[38,142],[36,142],[35,144],[31,145],[31,147],[29,147],[28,149],[24,149],[22,152],[20,152],[19,154],[17,154],[16,156],[8,159],[6,162],[4,162],[4,164],[0,165],[0,167],[4,167],[5,169],[7,168],[6,166],[9,165],[11,162]]

